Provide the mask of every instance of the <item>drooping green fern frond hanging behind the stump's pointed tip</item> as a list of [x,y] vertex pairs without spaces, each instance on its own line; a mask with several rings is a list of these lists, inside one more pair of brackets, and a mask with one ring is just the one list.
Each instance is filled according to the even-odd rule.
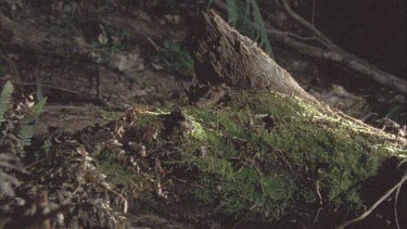
[[274,59],[266,26],[256,0],[227,0],[226,2],[228,4],[229,24],[243,35],[257,41]]

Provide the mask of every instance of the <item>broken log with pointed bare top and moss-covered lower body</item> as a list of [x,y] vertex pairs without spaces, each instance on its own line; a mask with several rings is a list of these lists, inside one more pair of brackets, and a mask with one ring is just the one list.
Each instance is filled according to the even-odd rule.
[[[245,142],[246,147],[237,154],[229,155],[229,158],[225,154],[230,149],[227,145],[220,147],[228,149],[226,152],[218,152],[226,164],[227,161],[233,164],[232,161],[237,157],[250,157],[245,160],[251,165],[240,162],[245,165],[240,165],[242,167],[239,169],[237,165],[231,166],[229,171],[225,168],[228,165],[221,165],[221,160],[216,156],[211,161],[216,165],[207,164],[208,167],[216,167],[213,169],[220,177],[225,176],[222,186],[230,186],[229,179],[236,186],[229,187],[230,190],[222,190],[221,195],[228,196],[228,200],[220,200],[218,207],[224,207],[225,212],[236,214],[239,212],[237,208],[242,207],[245,212],[249,211],[245,207],[249,207],[249,212],[253,213],[253,209],[262,208],[265,211],[262,214],[266,214],[263,215],[264,218],[280,218],[284,215],[284,209],[291,212],[294,203],[302,203],[314,205],[319,211],[325,208],[328,212],[341,209],[357,213],[365,204],[369,204],[361,194],[367,180],[380,177],[379,168],[387,160],[402,161],[406,156],[406,139],[394,139],[395,137],[384,135],[316,101],[255,42],[240,35],[213,11],[203,13],[194,23],[192,34],[196,78],[190,89],[191,102],[199,107],[218,103],[232,107],[230,112],[215,109],[193,114],[200,116],[201,122],[214,122],[222,126],[225,132],[221,136],[234,139],[229,141]],[[244,114],[249,117],[242,117]],[[242,122],[244,118],[249,118],[247,123]],[[262,130],[253,130],[256,118]],[[239,123],[243,125],[242,129],[238,127]],[[234,142],[236,144],[239,143]],[[255,149],[264,151],[256,152]],[[253,174],[239,175],[244,170],[243,167],[250,167],[247,173],[253,169]],[[270,167],[274,168],[272,171],[268,170]],[[230,178],[226,175],[228,173],[233,174],[230,177],[243,177]],[[398,177],[400,174],[403,169],[395,169],[393,176]],[[254,201],[255,190],[249,191],[254,195],[243,194],[232,200],[232,193],[244,193],[244,189],[250,189],[246,185],[262,189],[262,198],[256,196],[258,202]],[[266,187],[270,188],[270,192],[266,191]],[[291,191],[293,195],[288,194]],[[382,188],[376,191],[384,193]],[[207,198],[206,201],[213,203],[212,194],[216,194],[207,192],[209,194],[205,193],[204,199]],[[269,208],[268,204],[259,201],[267,199],[266,193],[270,194],[268,204],[275,205],[275,208]],[[244,196],[247,198],[245,201]],[[281,200],[284,201],[280,202]],[[253,205],[250,206],[249,202]],[[285,208],[287,206],[289,207]],[[274,213],[270,214],[270,211]],[[319,215],[319,211],[315,215]],[[330,214],[332,212],[327,215]]]

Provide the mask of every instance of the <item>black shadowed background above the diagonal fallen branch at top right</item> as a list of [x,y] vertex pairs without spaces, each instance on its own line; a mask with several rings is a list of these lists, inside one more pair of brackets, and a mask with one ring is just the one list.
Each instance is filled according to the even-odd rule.
[[[315,0],[315,25],[346,51],[407,79],[406,0]],[[310,20],[311,0],[298,5]]]

